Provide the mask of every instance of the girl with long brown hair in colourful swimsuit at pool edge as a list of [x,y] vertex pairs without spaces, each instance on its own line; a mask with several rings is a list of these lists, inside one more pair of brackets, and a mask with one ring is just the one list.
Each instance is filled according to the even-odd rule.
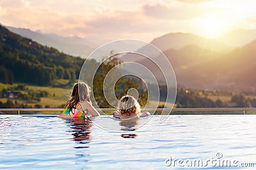
[[90,101],[90,87],[86,83],[76,83],[73,88],[72,96],[67,101],[65,110],[58,117],[85,117],[87,113],[99,116],[99,112],[93,108]]

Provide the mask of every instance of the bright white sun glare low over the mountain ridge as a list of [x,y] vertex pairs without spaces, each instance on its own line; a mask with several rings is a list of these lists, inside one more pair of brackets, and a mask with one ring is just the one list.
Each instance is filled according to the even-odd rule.
[[200,31],[207,38],[218,38],[224,34],[224,25],[219,18],[207,17],[198,20]]

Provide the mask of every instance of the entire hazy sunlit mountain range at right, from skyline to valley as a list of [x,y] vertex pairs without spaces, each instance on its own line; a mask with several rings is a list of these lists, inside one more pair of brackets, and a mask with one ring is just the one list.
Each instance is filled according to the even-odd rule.
[[[253,90],[256,88],[253,78],[256,71],[256,64],[253,62],[256,53],[253,41],[256,39],[255,33],[254,30],[234,31],[214,40],[179,32],[166,34],[151,43],[166,55],[179,85],[196,89]],[[143,46],[138,53],[147,53],[162,65],[166,62],[161,52],[156,52],[150,45]],[[121,59],[147,67],[158,81],[164,81],[163,73],[170,71],[168,67],[159,68],[152,60],[141,55],[127,54]],[[135,70],[127,67],[127,70],[138,76],[145,76],[142,68]],[[153,81],[152,78],[146,80]]]

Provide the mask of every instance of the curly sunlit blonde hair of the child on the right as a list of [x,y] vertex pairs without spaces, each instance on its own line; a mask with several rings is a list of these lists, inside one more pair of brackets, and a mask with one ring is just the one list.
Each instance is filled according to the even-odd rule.
[[121,115],[131,116],[132,113],[140,113],[140,104],[129,95],[123,96],[118,102],[118,111]]

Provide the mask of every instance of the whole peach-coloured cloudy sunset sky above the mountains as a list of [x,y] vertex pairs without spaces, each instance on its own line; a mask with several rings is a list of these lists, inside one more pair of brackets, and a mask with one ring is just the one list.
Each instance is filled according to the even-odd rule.
[[0,24],[88,39],[152,39],[170,32],[218,38],[256,29],[255,0],[1,0]]

